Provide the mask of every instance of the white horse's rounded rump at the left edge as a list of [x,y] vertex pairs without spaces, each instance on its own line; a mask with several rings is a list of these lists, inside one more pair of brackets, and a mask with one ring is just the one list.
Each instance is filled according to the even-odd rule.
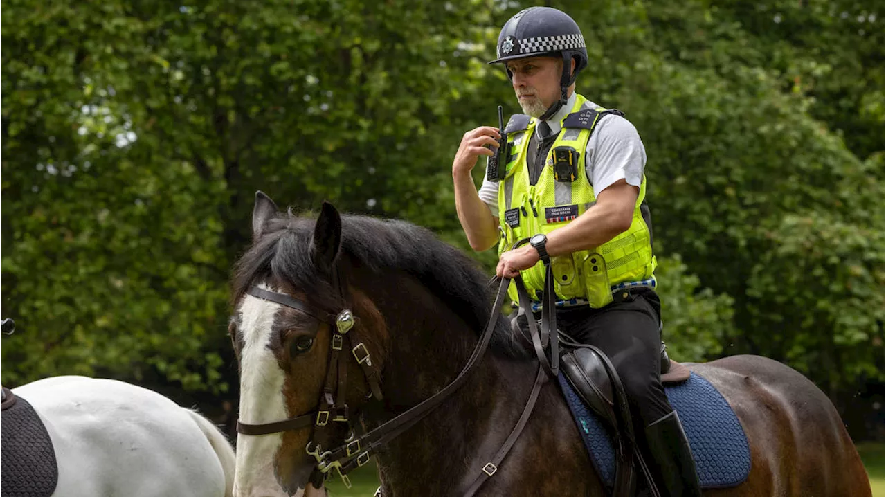
[[[51,440],[46,450],[54,451],[58,483],[46,495],[233,494],[236,459],[228,439],[202,415],[157,392],[110,379],[51,377],[19,386],[12,394],[19,405],[0,411],[0,425],[27,416],[22,413],[31,411],[20,402],[26,400]],[[0,439],[0,451],[27,450],[20,439],[15,442],[15,431],[7,433],[11,436]],[[16,485],[9,478],[14,478],[10,468],[0,470],[0,488]]]

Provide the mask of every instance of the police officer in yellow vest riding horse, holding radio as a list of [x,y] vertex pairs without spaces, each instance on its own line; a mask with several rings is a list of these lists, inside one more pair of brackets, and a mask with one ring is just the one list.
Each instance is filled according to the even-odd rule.
[[[661,490],[701,495],[680,419],[660,378],[660,302],[655,291],[646,151],[618,111],[574,92],[587,67],[578,25],[548,7],[518,12],[502,27],[498,57],[525,114],[504,129],[507,146],[477,190],[470,176],[501,138],[482,126],[464,134],[453,160],[455,206],[470,246],[498,245],[498,276],[522,274],[537,299],[553,269],[557,324],[615,364]],[[509,250],[517,240],[530,245]],[[516,299],[514,284],[510,295]]]

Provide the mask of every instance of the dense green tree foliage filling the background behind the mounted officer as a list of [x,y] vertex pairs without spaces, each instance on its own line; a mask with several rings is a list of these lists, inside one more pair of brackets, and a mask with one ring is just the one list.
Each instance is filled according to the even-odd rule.
[[[485,62],[523,4],[4,2],[0,315],[24,330],[4,381],[227,388],[255,190],[467,249],[451,160],[495,105],[519,112]],[[587,39],[579,92],[646,144],[674,357],[762,353],[831,393],[886,379],[882,3],[550,4]]]

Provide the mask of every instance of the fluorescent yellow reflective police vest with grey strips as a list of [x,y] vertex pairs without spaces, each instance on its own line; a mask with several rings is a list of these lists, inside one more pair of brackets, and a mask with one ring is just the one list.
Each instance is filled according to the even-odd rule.
[[[526,151],[537,120],[524,114],[511,116],[505,128],[509,158],[505,159],[506,172],[499,185],[500,255],[518,240],[537,233],[547,235],[594,206],[594,189],[585,173],[587,142],[602,115],[621,113],[593,109],[586,106],[586,102],[585,97],[577,95],[534,185],[529,181]],[[564,170],[564,160],[571,161],[572,171],[577,174],[561,174],[558,181],[554,173],[555,160],[561,166],[559,171]],[[652,253],[649,226],[641,214],[645,198],[644,175],[629,229],[605,244],[551,258],[557,299],[587,299],[591,307],[603,307],[612,301],[612,286],[653,277],[656,258]],[[521,275],[529,295],[539,299],[544,289],[544,265],[539,261]],[[515,285],[511,285],[509,295],[517,300]]]

